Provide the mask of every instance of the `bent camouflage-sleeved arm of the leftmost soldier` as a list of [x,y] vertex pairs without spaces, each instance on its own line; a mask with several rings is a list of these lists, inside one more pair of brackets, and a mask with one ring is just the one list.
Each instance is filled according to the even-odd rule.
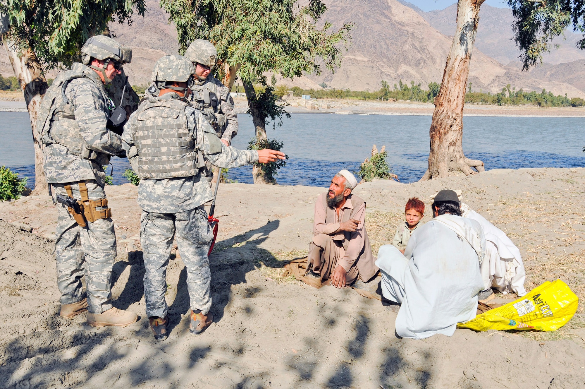
[[106,128],[106,107],[98,88],[90,80],[75,79],[67,86],[67,97],[75,107],[75,120],[90,149],[110,155],[122,152],[122,140]]

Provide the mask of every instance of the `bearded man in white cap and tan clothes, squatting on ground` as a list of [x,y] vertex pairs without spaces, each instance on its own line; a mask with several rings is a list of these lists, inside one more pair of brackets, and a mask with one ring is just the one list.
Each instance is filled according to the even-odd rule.
[[366,202],[352,195],[356,186],[353,174],[343,169],[315,203],[307,268],[322,285],[345,288],[358,278],[367,282],[378,272],[364,226]]

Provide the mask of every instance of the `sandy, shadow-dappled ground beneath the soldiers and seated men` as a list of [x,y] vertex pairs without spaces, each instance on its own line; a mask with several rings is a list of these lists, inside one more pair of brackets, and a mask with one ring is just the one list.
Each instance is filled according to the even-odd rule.
[[[526,288],[563,279],[585,295],[585,169],[490,170],[469,178],[359,185],[374,250],[389,243],[409,196],[429,204],[443,187],[503,229],[525,260]],[[0,203],[0,387],[45,388],[577,388],[585,385],[583,305],[550,333],[458,329],[452,337],[398,339],[395,313],[350,289],[283,278],[307,252],[323,188],[221,185],[212,253],[212,312],[188,333],[186,273],[168,267],[171,333],[154,342],[144,314],[136,187],[106,187],[118,236],[113,303],[140,315],[126,328],[94,329],[85,314],[57,315],[48,196]],[[425,215],[424,221],[429,219]],[[33,227],[32,233],[13,222]],[[126,252],[129,248],[130,253]],[[360,287],[375,291],[378,279]],[[498,296],[508,301],[514,296]]]

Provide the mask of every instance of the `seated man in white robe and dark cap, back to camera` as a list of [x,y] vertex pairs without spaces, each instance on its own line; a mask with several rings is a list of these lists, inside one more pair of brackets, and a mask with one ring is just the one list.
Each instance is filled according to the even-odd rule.
[[404,255],[393,245],[378,251],[382,294],[400,304],[395,329],[401,337],[453,335],[457,323],[475,318],[483,289],[486,243],[479,223],[460,216],[452,190],[441,190],[431,209],[433,219],[412,234]]

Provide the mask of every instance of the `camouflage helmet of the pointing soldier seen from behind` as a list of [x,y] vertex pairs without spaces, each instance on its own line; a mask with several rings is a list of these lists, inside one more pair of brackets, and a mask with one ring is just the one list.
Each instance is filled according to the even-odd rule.
[[181,88],[168,85],[169,82],[191,84],[195,67],[187,57],[179,55],[170,55],[160,58],[155,64],[152,71],[152,80],[159,89],[172,89],[184,91],[187,87]]

